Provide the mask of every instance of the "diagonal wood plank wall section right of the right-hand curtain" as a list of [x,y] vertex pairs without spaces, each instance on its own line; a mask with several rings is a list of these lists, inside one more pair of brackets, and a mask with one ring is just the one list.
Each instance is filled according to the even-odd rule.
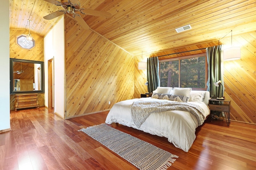
[[224,62],[224,96],[231,100],[232,120],[256,123],[256,32],[233,37],[233,44],[241,46],[241,59]]

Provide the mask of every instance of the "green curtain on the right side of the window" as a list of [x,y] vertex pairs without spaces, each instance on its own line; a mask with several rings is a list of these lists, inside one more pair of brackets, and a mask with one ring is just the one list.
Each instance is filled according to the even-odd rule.
[[[224,81],[221,45],[206,48],[206,55],[208,63],[207,91],[210,92],[212,98],[222,97],[222,91],[224,93]],[[214,82],[217,82],[218,80],[221,80],[223,88],[221,85],[219,87],[214,85]]]

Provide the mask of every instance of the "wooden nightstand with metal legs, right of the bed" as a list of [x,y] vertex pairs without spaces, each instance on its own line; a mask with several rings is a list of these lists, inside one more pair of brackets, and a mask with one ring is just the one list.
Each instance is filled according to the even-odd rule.
[[[229,126],[229,123],[230,123],[230,105],[231,105],[230,100],[217,100],[217,99],[212,98],[212,99],[209,100],[209,107],[210,107],[210,110],[211,110],[210,114],[212,114],[212,111],[222,111],[222,112],[224,112],[227,125]],[[211,119],[212,119],[212,116],[213,115],[211,115]]]

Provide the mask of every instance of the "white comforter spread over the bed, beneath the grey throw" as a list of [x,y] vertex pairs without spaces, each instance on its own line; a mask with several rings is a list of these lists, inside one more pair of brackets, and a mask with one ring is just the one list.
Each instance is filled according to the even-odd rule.
[[[187,111],[178,110],[152,113],[138,128],[131,115],[131,106],[134,101],[159,101],[159,99],[140,98],[118,102],[110,109],[105,122],[107,124],[119,123],[152,135],[166,137],[175,147],[188,152],[196,139],[195,132],[196,127],[198,127],[198,121],[194,115]],[[205,117],[209,115],[210,110],[204,102],[190,103],[202,107]]]

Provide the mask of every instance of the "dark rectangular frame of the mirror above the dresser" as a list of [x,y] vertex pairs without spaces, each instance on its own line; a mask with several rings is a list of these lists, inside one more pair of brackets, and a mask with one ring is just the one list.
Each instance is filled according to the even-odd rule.
[[[31,91],[14,91],[13,87],[13,62],[24,62],[24,63],[36,63],[41,65],[41,90]],[[44,93],[44,62],[43,61],[32,61],[22,59],[11,59],[10,58],[10,94],[26,94],[26,93]]]

